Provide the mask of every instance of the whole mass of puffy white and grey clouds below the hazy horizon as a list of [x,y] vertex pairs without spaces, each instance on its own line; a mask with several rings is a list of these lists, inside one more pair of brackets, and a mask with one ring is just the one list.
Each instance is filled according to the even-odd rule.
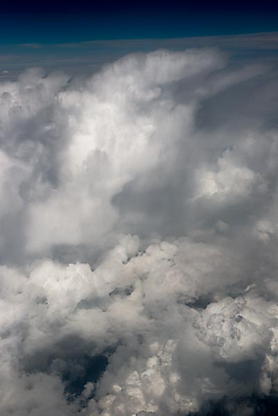
[[192,49],[0,83],[1,415],[274,406],[276,71]]

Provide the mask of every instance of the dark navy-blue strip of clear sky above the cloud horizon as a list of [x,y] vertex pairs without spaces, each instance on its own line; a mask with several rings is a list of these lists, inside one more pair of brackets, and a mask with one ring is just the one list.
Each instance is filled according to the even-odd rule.
[[225,1],[21,1],[1,5],[0,44],[278,31],[278,6]]

